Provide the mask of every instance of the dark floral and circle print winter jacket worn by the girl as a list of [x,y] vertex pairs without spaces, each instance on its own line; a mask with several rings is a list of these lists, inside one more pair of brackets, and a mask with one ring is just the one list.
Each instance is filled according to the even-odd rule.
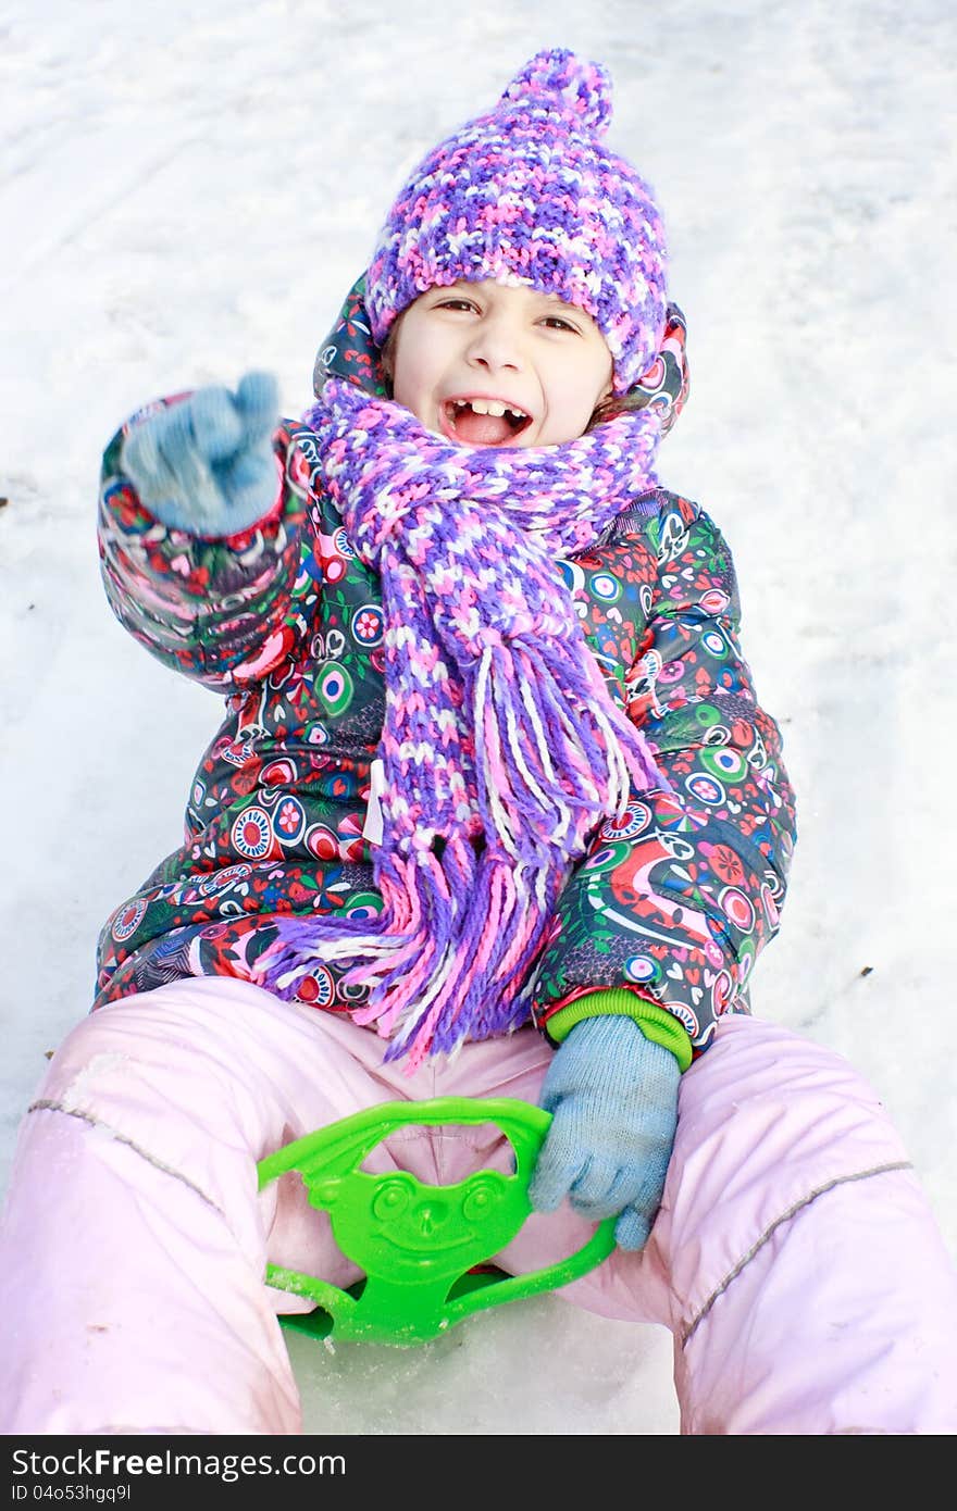
[[[153,408],[130,420],[139,423]],[[274,438],[271,514],[230,539],[159,524],[104,455],[100,558],[113,612],[166,666],[225,697],[181,846],[103,928],[94,1006],[181,976],[254,978],[281,913],[378,910],[367,820],[384,715],[382,610],[292,422]],[[738,644],[730,552],[658,488],[562,564],[612,697],[671,790],[608,822],[571,875],[540,961],[534,1017],[599,988],[664,1006],[701,1050],[747,1011],[776,932],[794,840],[780,734]],[[317,966],[299,1000],[348,1012],[363,990]]]

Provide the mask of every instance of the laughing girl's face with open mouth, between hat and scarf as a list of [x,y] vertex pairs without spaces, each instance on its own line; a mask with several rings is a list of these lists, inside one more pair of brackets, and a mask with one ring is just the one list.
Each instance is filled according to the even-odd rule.
[[558,446],[611,393],[591,316],[556,295],[497,283],[429,289],[392,343],[393,397],[460,446]]

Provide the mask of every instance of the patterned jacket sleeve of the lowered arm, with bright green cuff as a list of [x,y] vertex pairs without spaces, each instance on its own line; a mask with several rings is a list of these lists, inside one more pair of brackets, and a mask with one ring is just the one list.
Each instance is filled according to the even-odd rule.
[[643,609],[623,703],[664,780],[632,796],[573,872],[532,1011],[558,1043],[579,1018],[636,999],[638,1021],[643,1003],[652,1018],[664,1008],[700,1052],[723,1012],[748,1011],[785,898],[794,795],[738,642],[727,544],[695,505],[659,497],[636,555],[632,541]]

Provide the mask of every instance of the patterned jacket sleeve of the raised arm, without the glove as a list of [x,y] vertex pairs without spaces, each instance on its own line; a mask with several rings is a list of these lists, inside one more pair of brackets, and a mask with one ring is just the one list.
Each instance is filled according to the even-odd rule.
[[307,518],[298,452],[280,426],[269,512],[228,539],[197,539],[159,523],[122,471],[129,429],[156,408],[133,416],[103,458],[98,548],[106,595],[119,623],[165,666],[218,692],[237,691],[278,665],[302,629],[293,612]]

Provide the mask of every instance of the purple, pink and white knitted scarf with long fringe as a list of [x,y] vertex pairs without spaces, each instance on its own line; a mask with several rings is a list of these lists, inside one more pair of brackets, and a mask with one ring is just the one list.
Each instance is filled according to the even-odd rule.
[[646,408],[564,446],[457,446],[334,379],[295,435],[381,577],[382,911],[280,919],[257,976],[289,999],[314,961],[348,966],[352,1017],[410,1070],[528,1018],[571,866],[662,784],[556,565],[653,487],[659,432]]

